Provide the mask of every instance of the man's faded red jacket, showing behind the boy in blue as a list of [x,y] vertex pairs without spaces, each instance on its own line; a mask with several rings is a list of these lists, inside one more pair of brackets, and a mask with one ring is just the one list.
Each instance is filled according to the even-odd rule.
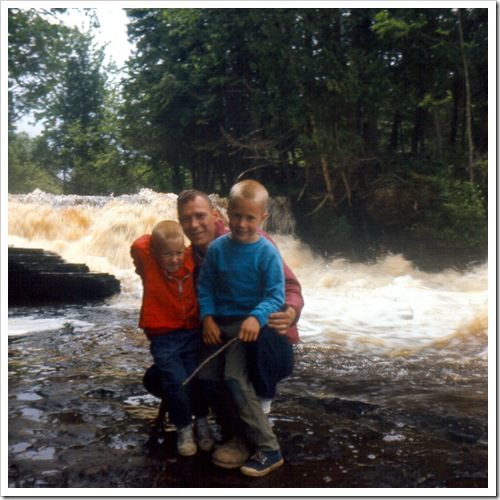
[[[229,229],[227,229],[224,226],[224,222],[221,219],[217,220],[217,226],[216,226],[216,233],[215,237],[218,238],[219,236],[222,236],[223,234],[226,234],[229,232]],[[276,245],[272,238],[262,229],[257,230],[258,233],[262,234],[265,238],[267,238],[271,243]],[[191,247],[189,247],[191,248]],[[200,255],[199,253],[194,250],[194,255],[193,255],[194,261],[195,261],[195,281],[198,278],[199,274],[199,268],[201,267],[201,264],[203,263],[203,255]],[[286,304],[289,305],[290,307],[293,307],[295,309],[295,312],[297,313],[297,316],[295,318],[295,321],[292,326],[288,329],[286,332],[286,336],[288,337],[288,342],[290,344],[298,344],[300,342],[299,340],[299,331],[297,328],[297,322],[299,321],[300,318],[300,313],[302,312],[302,308],[304,307],[304,299],[302,297],[302,288],[300,286],[299,280],[296,278],[295,274],[293,274],[292,270],[286,265],[285,261],[283,261],[283,271],[285,273],[285,298],[286,298]]]

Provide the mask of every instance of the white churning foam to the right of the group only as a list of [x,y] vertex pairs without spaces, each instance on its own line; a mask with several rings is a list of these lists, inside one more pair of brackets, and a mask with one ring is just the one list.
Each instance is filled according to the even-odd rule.
[[478,343],[487,355],[488,267],[425,273],[401,255],[373,264],[329,262],[289,236],[275,236],[303,287],[304,341],[353,349],[403,352]]

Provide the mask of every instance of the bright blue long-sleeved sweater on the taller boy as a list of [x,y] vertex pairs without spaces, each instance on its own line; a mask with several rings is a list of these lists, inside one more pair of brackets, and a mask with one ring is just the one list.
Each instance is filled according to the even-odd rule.
[[198,279],[198,304],[205,316],[254,316],[261,327],[285,303],[283,262],[262,236],[239,243],[226,234],[208,248]]

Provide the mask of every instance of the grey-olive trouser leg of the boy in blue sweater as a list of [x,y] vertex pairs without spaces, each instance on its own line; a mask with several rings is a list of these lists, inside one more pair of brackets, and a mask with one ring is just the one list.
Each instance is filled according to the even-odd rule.
[[[223,326],[221,331],[226,338],[238,335],[240,322]],[[225,354],[224,379],[238,406],[239,416],[245,422],[250,439],[256,451],[276,451],[280,446],[269,420],[265,416],[252,383],[248,377],[247,343],[235,342]]]

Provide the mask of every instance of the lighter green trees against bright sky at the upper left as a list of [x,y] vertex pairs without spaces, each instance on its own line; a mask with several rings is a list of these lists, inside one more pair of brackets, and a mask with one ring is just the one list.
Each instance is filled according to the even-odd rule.
[[[120,147],[120,96],[106,86],[103,48],[90,34],[56,24],[60,10],[9,11],[11,123],[28,111],[43,123],[42,134],[30,146],[31,161],[63,192],[134,189]],[[11,129],[9,146],[15,147]]]

